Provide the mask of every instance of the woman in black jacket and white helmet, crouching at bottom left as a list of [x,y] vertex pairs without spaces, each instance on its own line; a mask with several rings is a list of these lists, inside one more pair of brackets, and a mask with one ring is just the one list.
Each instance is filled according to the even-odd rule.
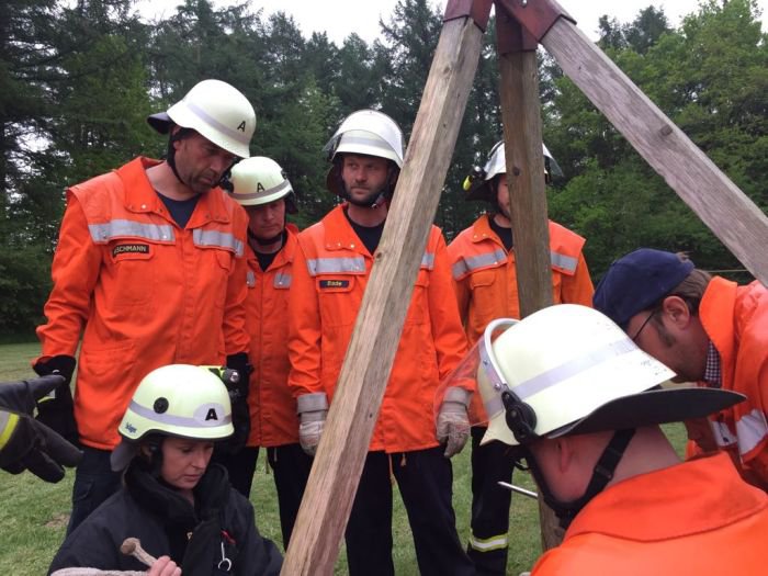
[[259,534],[253,507],[229,487],[224,467],[210,464],[214,441],[233,431],[227,389],[212,372],[185,364],[150,372],[112,453],[124,486],[69,534],[50,572],[147,569],[120,552],[133,537],[153,556],[170,556],[184,576],[279,574],[282,557]]

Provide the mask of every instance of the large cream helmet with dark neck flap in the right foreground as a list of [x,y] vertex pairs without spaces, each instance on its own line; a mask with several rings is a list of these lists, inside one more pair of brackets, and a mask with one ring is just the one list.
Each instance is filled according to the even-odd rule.
[[488,416],[483,443],[681,421],[744,399],[713,388],[660,388],[674,372],[607,316],[576,304],[494,320],[474,353]]

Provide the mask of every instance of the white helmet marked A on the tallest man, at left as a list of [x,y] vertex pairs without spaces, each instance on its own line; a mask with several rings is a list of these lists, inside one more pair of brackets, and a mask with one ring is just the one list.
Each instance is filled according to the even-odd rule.
[[168,112],[151,114],[147,122],[160,134],[168,134],[171,123],[192,128],[219,148],[248,158],[256,112],[236,88],[221,80],[203,80]]

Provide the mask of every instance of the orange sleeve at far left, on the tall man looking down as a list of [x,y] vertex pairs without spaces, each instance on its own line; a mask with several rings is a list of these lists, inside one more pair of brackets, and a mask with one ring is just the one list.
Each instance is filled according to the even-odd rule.
[[37,328],[43,350],[34,362],[58,354],[75,355],[99,279],[101,258],[102,250],[91,239],[82,206],[68,192],[50,272],[54,287],[44,308],[48,321]]

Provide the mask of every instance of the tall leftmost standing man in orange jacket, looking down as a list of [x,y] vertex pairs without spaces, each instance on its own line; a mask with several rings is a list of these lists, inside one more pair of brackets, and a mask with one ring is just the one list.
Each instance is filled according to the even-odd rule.
[[[247,215],[218,183],[250,156],[253,108],[231,86],[204,80],[147,121],[169,135],[166,160],[139,157],[67,191],[47,323],[37,328],[41,375],[69,382],[80,345],[74,402],[63,386],[38,408],[84,451],[69,532],[120,487],[110,453],[136,383],[171,363],[247,373]],[[248,436],[247,382],[230,382],[231,445]]]

